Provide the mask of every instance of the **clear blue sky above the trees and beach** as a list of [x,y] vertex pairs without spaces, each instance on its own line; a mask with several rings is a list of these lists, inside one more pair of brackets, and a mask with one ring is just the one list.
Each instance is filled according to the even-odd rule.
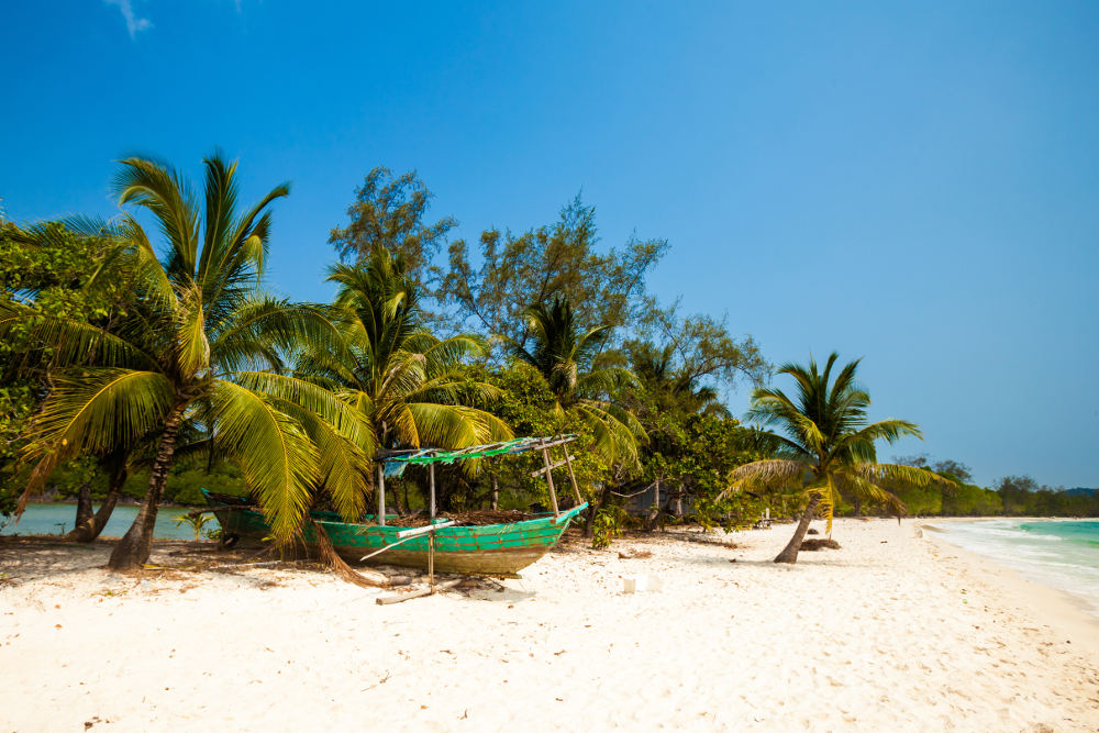
[[323,299],[376,165],[470,238],[582,189],[606,245],[670,241],[662,299],[864,357],[926,435],[881,455],[1099,486],[1099,5],[460,5],[5,3],[7,214],[110,215],[120,156],[220,146],[245,200],[293,182],[271,281]]

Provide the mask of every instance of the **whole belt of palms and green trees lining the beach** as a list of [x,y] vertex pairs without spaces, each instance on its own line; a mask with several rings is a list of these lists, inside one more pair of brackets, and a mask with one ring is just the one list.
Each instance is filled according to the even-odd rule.
[[[271,206],[289,188],[241,211],[235,164],[214,155],[204,174],[196,197],[164,164],[122,163],[120,206],[156,222],[156,247],[132,209],[0,219],[0,511],[36,490],[101,499],[110,484],[143,501],[133,533],[160,502],[200,503],[210,487],[252,495],[289,542],[312,506],[367,510],[379,448],[570,433],[600,546],[625,526],[737,526],[768,509],[1099,514],[1095,492],[1029,477],[986,489],[952,460],[878,463],[876,442],[919,433],[868,423],[857,362],[834,379],[834,354],[823,371],[781,367],[792,397],[764,387],[770,365],[751,336],[650,295],[668,243],[600,246],[579,198],[550,224],[485,231],[470,247],[447,241],[454,219],[429,219],[414,173],[375,168],[331,232],[338,295],[303,304],[263,284]],[[762,427],[726,407],[742,382]],[[536,453],[440,466],[439,506],[544,507],[542,467]],[[567,475],[554,476],[567,506]],[[390,509],[421,508],[426,471],[387,489]]]

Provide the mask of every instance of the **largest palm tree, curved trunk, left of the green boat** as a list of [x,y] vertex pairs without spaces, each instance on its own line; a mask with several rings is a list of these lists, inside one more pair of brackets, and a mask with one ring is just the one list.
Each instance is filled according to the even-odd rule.
[[[30,426],[24,457],[35,469],[27,493],[59,460],[104,455],[148,437],[155,443],[148,489],[111,553],[113,569],[148,558],[157,506],[187,421],[206,429],[210,449],[241,465],[282,542],[295,535],[334,454],[352,456],[347,460],[356,455],[356,415],[323,389],[278,374],[280,354],[332,330],[321,309],[259,289],[269,207],[289,187],[274,188],[238,215],[236,164],[214,154],[204,168],[203,211],[169,166],[137,157],[121,164],[113,181],[119,201],[153,216],[166,240],[163,256],[129,212],[111,223],[69,223],[118,243],[115,255],[132,273],[138,307],[111,332],[0,304],[0,332],[29,323],[58,363],[70,366],[58,373]],[[311,440],[322,429],[336,438],[324,452]]]

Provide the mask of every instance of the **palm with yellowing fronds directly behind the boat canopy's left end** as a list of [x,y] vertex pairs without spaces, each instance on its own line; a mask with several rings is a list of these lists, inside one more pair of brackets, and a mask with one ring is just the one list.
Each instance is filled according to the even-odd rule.
[[[424,327],[421,288],[401,255],[375,247],[360,264],[335,265],[331,343],[298,355],[297,375],[337,395],[367,426],[360,444],[458,448],[512,437],[495,415],[470,407],[498,390],[465,379],[462,360],[481,353],[469,335],[437,338]],[[354,508],[347,508],[354,509]]]

